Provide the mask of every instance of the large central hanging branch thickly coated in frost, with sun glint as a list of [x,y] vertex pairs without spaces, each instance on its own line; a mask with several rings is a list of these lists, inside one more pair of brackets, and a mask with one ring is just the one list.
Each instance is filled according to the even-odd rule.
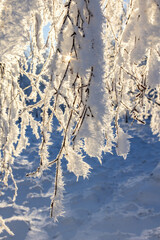
[[[90,170],[83,160],[82,148],[101,162],[102,152],[106,150],[107,126],[111,126],[103,69],[103,23],[101,1],[71,0],[65,3],[63,14],[55,24],[59,32],[55,34],[57,51],[50,73],[51,86],[55,89],[53,109],[63,129],[56,160],[64,154],[68,170],[77,179],[86,178]],[[108,149],[111,149],[112,128],[108,132]]]

